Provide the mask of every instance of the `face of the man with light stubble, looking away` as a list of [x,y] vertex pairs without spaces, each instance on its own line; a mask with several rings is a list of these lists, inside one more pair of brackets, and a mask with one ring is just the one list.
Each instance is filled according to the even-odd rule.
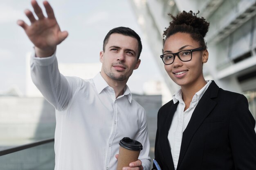
[[105,80],[128,81],[133,70],[140,64],[137,39],[113,33],[105,46],[105,52],[100,52],[102,63],[101,75]]

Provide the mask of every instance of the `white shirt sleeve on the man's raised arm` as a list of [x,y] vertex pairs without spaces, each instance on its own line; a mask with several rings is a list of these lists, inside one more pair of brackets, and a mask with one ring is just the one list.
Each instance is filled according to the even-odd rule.
[[32,81],[45,99],[55,109],[64,110],[72,97],[72,90],[65,76],[58,70],[56,51],[52,56],[44,58],[35,57],[34,52],[31,55],[30,67]]

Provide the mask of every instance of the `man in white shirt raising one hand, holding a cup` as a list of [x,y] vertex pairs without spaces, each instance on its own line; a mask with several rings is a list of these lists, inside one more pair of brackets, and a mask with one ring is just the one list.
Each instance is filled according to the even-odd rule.
[[61,31],[52,7],[44,1],[48,17],[36,0],[25,14],[28,26],[18,20],[34,44],[31,77],[56,109],[55,170],[116,170],[119,140],[130,137],[143,145],[139,160],[123,170],[150,168],[149,140],[144,109],[126,85],[140,64],[139,35],[130,28],[112,29],[100,52],[101,72],[93,79],[65,77],[58,71],[56,47],[68,35]]

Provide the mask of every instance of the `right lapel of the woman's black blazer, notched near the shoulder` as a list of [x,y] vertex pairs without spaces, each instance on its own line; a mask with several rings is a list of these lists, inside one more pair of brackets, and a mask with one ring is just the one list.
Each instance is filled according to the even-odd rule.
[[204,119],[209,115],[212,109],[216,106],[216,102],[213,101],[211,98],[214,98],[218,94],[218,86],[214,81],[211,82],[208,89],[198,102],[198,105],[195,107],[191,119],[189,121],[188,126],[186,127],[185,131],[182,135],[182,143],[180,148],[180,156],[177,165],[177,169],[179,169],[180,164],[186,154],[186,150],[189,147],[190,141],[198,130]]

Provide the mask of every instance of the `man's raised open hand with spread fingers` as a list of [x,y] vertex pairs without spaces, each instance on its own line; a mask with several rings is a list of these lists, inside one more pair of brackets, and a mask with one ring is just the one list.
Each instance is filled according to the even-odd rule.
[[27,9],[25,10],[25,14],[31,22],[31,25],[29,26],[22,20],[18,20],[17,24],[24,29],[31,42],[34,44],[36,56],[49,57],[54,53],[57,45],[67,37],[68,33],[67,31],[61,31],[49,2],[43,2],[47,17],[43,15],[43,11],[36,0],[31,0],[31,5],[38,20],[36,20],[33,13]]

